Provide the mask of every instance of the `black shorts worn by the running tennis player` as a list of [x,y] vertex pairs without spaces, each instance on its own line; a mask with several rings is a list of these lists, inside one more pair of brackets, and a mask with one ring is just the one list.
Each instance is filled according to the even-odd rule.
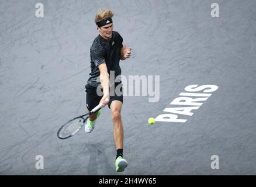
[[[121,84],[121,85],[120,85]],[[101,92],[102,88],[100,87]],[[116,92],[116,90],[118,91]],[[99,105],[99,102],[101,101],[102,96],[99,96],[97,94],[97,88],[91,85],[85,85],[85,92],[87,92],[87,109],[91,111],[95,108],[95,106]],[[102,92],[103,93],[103,92]],[[120,101],[123,103],[123,84],[122,82],[115,83],[115,89],[110,87],[110,99],[108,102],[108,106],[110,108],[110,105],[112,101]]]

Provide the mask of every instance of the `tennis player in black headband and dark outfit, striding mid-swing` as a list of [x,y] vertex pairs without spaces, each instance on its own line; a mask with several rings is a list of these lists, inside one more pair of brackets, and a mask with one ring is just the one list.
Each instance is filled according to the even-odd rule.
[[[111,110],[112,121],[114,124],[113,137],[116,147],[115,167],[117,172],[124,171],[127,161],[123,158],[123,124],[121,109],[123,105],[122,80],[110,82],[110,71],[115,72],[115,78],[120,77],[120,60],[125,60],[131,56],[131,48],[126,49],[123,45],[123,38],[119,33],[113,31],[113,12],[104,9],[96,13],[95,23],[99,35],[92,43],[91,52],[91,73],[85,91],[87,92],[87,109],[92,110],[100,102],[103,106],[108,105]],[[121,85],[120,85],[121,84]],[[118,89],[119,93],[110,94],[112,86]],[[103,91],[103,95],[99,94]],[[121,93],[121,94],[120,94]],[[85,131],[91,133],[94,130],[96,119],[101,115],[101,110],[94,113],[85,122]]]

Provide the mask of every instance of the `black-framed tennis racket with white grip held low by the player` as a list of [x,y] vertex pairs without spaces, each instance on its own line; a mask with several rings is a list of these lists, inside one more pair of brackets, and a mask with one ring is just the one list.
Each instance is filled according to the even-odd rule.
[[71,136],[74,136],[78,133],[79,130],[84,126],[84,122],[91,116],[93,113],[98,112],[99,109],[102,108],[102,103],[95,106],[90,112],[86,113],[85,115],[75,117],[69,120],[67,123],[63,124],[58,130],[57,136],[60,139],[67,139]]

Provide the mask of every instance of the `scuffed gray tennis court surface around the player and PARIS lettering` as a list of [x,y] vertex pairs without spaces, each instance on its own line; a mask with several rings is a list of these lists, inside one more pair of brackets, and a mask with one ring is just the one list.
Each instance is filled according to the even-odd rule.
[[[85,112],[89,47],[101,8],[112,9],[114,30],[132,47],[132,57],[120,62],[122,74],[160,76],[158,102],[124,96],[129,167],[117,175],[256,174],[255,1],[40,2],[43,18],[35,15],[38,1],[0,2],[1,175],[117,174],[108,108],[91,134],[56,136],[61,124]],[[169,103],[189,85],[218,89],[192,116],[176,114],[185,123],[147,124],[178,107]],[[37,155],[43,169],[36,168]],[[219,169],[211,167],[213,155]]]

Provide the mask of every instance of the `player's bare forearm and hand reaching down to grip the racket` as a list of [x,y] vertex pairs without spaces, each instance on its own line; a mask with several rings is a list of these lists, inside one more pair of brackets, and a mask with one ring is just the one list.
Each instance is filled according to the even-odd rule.
[[[101,103],[103,106],[108,104],[109,102],[109,74],[108,74],[108,68],[106,67],[105,63],[98,65],[99,71],[101,72],[99,75],[99,79],[101,81],[101,86],[103,88],[103,96],[101,99]],[[108,101],[106,101],[106,98],[108,98]]]

